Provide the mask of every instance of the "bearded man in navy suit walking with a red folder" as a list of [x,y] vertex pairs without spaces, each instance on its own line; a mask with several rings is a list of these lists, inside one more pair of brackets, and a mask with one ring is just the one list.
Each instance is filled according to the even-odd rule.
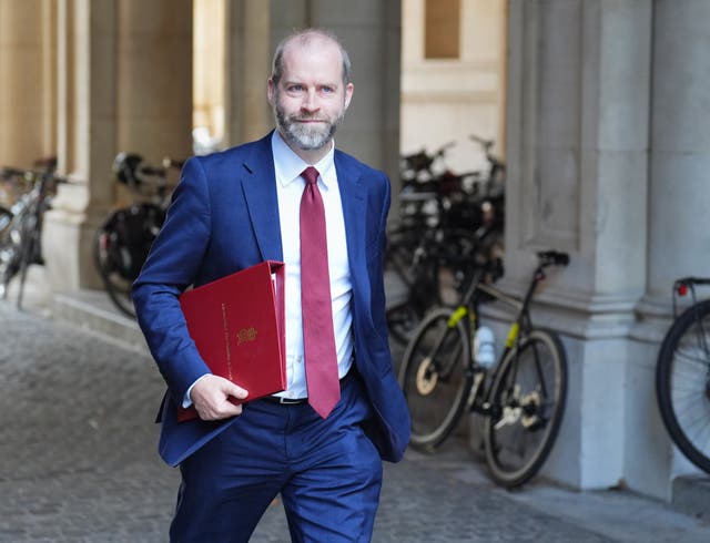
[[[382,268],[389,183],[334,148],[349,78],[332,34],[286,38],[267,86],[277,130],[187,161],[133,286],[169,386],[160,452],[182,474],[173,541],[247,541],[277,494],[293,541],[368,541],[382,459],[404,454]],[[178,297],[263,260],[285,263],[287,390],[234,406],[248,391],[210,373]],[[191,403],[200,419],[176,422]]]

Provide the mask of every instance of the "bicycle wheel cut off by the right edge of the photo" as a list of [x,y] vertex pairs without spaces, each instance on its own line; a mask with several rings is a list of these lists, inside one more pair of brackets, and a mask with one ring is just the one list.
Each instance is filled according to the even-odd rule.
[[686,309],[663,338],[656,366],[658,407],[673,443],[710,473],[710,300]]

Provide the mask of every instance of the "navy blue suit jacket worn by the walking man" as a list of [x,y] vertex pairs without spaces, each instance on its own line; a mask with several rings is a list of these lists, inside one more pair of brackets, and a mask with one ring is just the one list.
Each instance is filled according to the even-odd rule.
[[[398,461],[409,441],[409,414],[394,376],[385,320],[383,253],[389,182],[345,153],[336,151],[334,160],[353,285],[355,365],[376,413],[365,431],[384,460]],[[209,372],[187,334],[178,296],[190,285],[282,259],[271,134],[190,158],[132,289],[139,324],[168,383],[159,414],[159,451],[169,464],[179,464],[236,420],[176,421],[175,406]]]

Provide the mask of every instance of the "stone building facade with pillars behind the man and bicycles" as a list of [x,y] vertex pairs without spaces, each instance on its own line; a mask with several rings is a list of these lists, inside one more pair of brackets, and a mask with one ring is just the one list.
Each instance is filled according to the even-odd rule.
[[[653,371],[672,281],[703,275],[710,247],[710,228],[698,221],[710,208],[710,2],[456,4],[488,32],[479,41],[462,33],[460,59],[478,69],[459,72],[463,79],[445,61],[423,61],[413,49],[425,40],[416,38],[420,29],[403,30],[426,9],[423,0],[225,0],[223,143],[272,125],[264,90],[271,51],[297,27],[328,27],[352,51],[355,99],[338,145],[393,180],[399,150],[417,144],[417,114],[445,98],[463,101],[435,132],[460,139],[476,132],[475,121],[486,136],[505,140],[501,285],[520,291],[540,248],[571,255],[535,306],[536,320],[562,336],[570,367],[567,412],[545,474],[579,489],[623,484],[668,500],[672,480],[693,469],[663,429]],[[60,188],[44,226],[55,293],[99,286],[91,244],[116,202],[115,153],[140,151],[158,162],[192,152],[193,96],[202,92],[193,91],[192,8],[191,0],[0,0],[0,164],[55,153],[74,182]],[[505,54],[490,47],[496,40]],[[454,45],[426,47],[448,54]],[[403,64],[410,68],[404,79]],[[488,116],[470,113],[484,102],[494,104]]]

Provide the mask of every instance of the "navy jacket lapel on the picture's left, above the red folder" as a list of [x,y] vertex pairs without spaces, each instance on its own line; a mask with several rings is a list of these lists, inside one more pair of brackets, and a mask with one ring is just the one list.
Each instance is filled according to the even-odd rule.
[[242,191],[262,258],[283,260],[271,135],[258,141],[252,156],[244,161]]

